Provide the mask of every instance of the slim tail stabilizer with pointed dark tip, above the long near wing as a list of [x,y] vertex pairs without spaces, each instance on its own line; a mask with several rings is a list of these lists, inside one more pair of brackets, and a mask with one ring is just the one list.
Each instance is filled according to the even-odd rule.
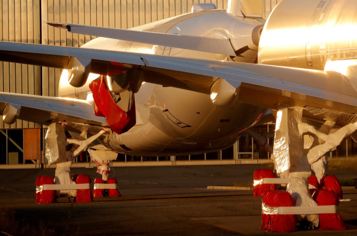
[[66,29],[67,32],[71,33],[236,56],[229,39],[214,39],[200,36],[135,31],[129,29],[113,29],[60,22],[48,22],[48,24],[50,26]]

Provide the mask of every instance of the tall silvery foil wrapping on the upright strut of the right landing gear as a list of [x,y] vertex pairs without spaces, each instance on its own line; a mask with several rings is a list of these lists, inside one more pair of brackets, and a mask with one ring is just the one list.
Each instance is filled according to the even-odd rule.
[[[317,206],[308,191],[311,167],[304,149],[302,124],[302,108],[283,108],[277,112],[274,140],[276,172],[285,177],[289,174],[288,191],[296,201],[296,206]],[[315,226],[319,224],[317,215],[300,215],[297,220],[302,218],[307,218]]]

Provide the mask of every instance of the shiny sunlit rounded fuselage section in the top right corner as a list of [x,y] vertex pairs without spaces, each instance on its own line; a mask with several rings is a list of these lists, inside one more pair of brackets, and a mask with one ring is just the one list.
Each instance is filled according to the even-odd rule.
[[327,61],[357,59],[357,2],[281,1],[265,23],[258,63],[324,70]]

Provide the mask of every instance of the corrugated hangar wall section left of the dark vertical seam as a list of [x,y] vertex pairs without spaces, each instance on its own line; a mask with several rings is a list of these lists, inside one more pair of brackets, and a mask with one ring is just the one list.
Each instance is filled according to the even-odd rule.
[[[2,0],[0,12],[0,40],[35,44],[41,42],[39,0]],[[41,67],[1,62],[0,91],[41,95]],[[40,126],[21,120],[10,126],[3,124],[0,119],[0,128],[21,127]]]

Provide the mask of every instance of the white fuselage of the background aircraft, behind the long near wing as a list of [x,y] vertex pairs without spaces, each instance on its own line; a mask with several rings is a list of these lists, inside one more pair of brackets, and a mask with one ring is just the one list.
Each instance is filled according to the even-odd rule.
[[[208,23],[209,22],[209,23]],[[183,35],[230,38],[235,49],[248,45],[253,26],[262,23],[215,10],[184,14],[133,30]],[[236,46],[235,46],[236,44]],[[115,39],[97,38],[83,47],[140,52],[173,57],[228,60],[227,55],[198,52],[160,45],[143,44]],[[254,45],[250,45],[254,48]],[[247,50],[234,60],[253,62],[257,51]],[[59,94],[61,97],[90,99],[88,85],[96,78],[88,78],[81,88],[68,84],[66,72],[61,76]],[[234,144],[239,133],[251,126],[266,109],[235,101],[229,107],[215,106],[209,94],[185,89],[164,87],[143,83],[135,93],[136,125],[128,132],[112,132],[102,144],[114,151],[132,155],[173,155],[179,153],[202,153],[223,149]]]

